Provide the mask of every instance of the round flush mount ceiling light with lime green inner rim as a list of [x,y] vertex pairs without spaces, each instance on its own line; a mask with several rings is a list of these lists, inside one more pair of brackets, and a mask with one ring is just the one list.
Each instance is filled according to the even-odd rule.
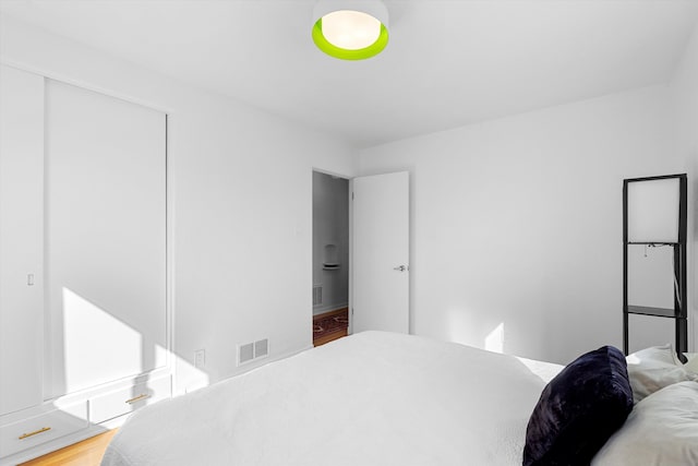
[[313,41],[330,57],[363,60],[388,44],[388,10],[380,0],[320,0]]

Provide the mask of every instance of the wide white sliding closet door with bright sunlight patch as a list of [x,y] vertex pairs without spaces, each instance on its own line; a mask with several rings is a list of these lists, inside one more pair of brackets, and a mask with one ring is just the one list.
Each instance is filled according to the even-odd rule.
[[165,365],[166,116],[47,81],[46,397]]

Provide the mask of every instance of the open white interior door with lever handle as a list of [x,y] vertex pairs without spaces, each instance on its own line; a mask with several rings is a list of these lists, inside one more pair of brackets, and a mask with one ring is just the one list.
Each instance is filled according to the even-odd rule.
[[352,180],[352,331],[409,333],[409,172]]

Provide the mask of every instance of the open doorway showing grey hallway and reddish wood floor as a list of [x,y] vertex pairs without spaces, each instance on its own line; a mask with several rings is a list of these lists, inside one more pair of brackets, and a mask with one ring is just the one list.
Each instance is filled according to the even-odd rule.
[[313,171],[313,345],[347,335],[349,180]]

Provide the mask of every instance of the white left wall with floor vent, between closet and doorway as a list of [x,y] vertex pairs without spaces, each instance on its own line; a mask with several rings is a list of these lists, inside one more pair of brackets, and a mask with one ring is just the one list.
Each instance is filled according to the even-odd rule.
[[[252,107],[0,21],[2,62],[169,113],[176,392],[234,373],[237,344],[269,338],[272,357],[311,346],[312,169],[351,176],[354,152]],[[203,378],[190,370],[198,348],[206,349]]]

